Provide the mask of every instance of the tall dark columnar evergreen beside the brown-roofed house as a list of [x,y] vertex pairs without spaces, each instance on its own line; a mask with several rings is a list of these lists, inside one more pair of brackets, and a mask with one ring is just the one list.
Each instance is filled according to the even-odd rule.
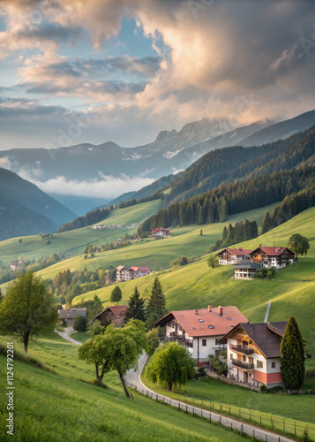
[[281,378],[284,386],[298,390],[304,383],[304,341],[296,319],[290,317],[281,340]]

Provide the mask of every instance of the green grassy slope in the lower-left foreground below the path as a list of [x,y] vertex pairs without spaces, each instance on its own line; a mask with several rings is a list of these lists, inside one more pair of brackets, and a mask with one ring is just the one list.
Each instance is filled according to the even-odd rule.
[[[4,340],[4,339],[3,339]],[[15,343],[15,347],[20,347]],[[50,373],[24,362],[14,362],[15,413],[14,440],[64,441],[226,441],[231,432],[196,417],[165,407],[135,393],[131,402],[116,374],[109,374],[109,389],[86,384],[93,367],[77,359],[78,347],[56,335],[31,344],[30,354],[41,357],[56,370]],[[0,356],[0,364],[5,364]],[[82,380],[79,380],[82,379]],[[0,372],[4,391],[6,378]],[[6,399],[1,396],[0,439],[6,434]],[[71,436],[70,436],[71,435]],[[241,437],[233,433],[233,440]]]

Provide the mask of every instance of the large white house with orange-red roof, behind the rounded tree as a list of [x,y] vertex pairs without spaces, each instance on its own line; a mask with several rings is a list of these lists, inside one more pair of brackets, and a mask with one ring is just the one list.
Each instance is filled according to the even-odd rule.
[[164,328],[165,337],[183,344],[199,363],[207,361],[208,354],[218,354],[224,346],[220,339],[246,317],[235,306],[171,311],[154,326]]

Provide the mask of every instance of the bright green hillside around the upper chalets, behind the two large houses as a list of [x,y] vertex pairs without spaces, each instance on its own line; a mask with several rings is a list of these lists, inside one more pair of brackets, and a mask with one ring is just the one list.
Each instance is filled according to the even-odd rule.
[[[276,245],[287,245],[289,236],[299,232],[308,238],[315,237],[315,208],[303,213],[276,227],[273,231],[242,243],[244,248],[255,248],[258,244],[272,245],[273,238]],[[211,228],[211,226],[206,226]],[[206,232],[206,229],[205,232]],[[197,231],[195,231],[197,235]],[[185,235],[182,236],[184,238]],[[203,237],[199,237],[203,238]],[[206,238],[206,236],[205,236]],[[174,239],[173,239],[174,240]],[[167,244],[170,240],[161,240]],[[157,241],[159,242],[159,241]],[[206,241],[209,244],[208,241]],[[169,250],[169,248],[165,248]],[[186,246],[186,255],[190,244]],[[124,249],[122,250],[124,252]],[[153,249],[154,253],[155,250]],[[179,254],[178,254],[179,255]],[[287,320],[295,316],[307,340],[308,350],[315,353],[315,240],[311,240],[311,249],[307,257],[299,263],[286,269],[277,271],[274,280],[234,280],[233,268],[219,266],[210,270],[206,264],[207,255],[198,262],[188,264],[173,271],[161,271],[159,278],[166,294],[167,309],[196,309],[206,305],[236,305],[251,322],[264,320],[268,301],[273,301],[269,316],[270,321]],[[158,259],[158,256],[157,256]],[[121,283],[123,301],[126,302],[135,286],[143,293],[145,288],[150,290],[156,274],[132,281]],[[112,287],[104,287],[94,293],[85,293],[77,298],[92,299],[94,294],[100,296],[101,301],[109,305],[109,296]]]

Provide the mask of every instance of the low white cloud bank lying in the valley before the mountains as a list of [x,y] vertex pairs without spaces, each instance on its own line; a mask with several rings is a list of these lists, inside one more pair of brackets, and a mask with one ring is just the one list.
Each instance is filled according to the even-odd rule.
[[37,187],[40,187],[42,191],[48,194],[68,194],[93,198],[115,198],[125,192],[139,190],[154,181],[154,179],[132,178],[122,174],[120,177],[102,175],[102,179],[89,179],[84,181],[56,177],[55,179],[42,182],[38,179],[31,178],[26,171],[20,171],[19,175],[33,182]]

